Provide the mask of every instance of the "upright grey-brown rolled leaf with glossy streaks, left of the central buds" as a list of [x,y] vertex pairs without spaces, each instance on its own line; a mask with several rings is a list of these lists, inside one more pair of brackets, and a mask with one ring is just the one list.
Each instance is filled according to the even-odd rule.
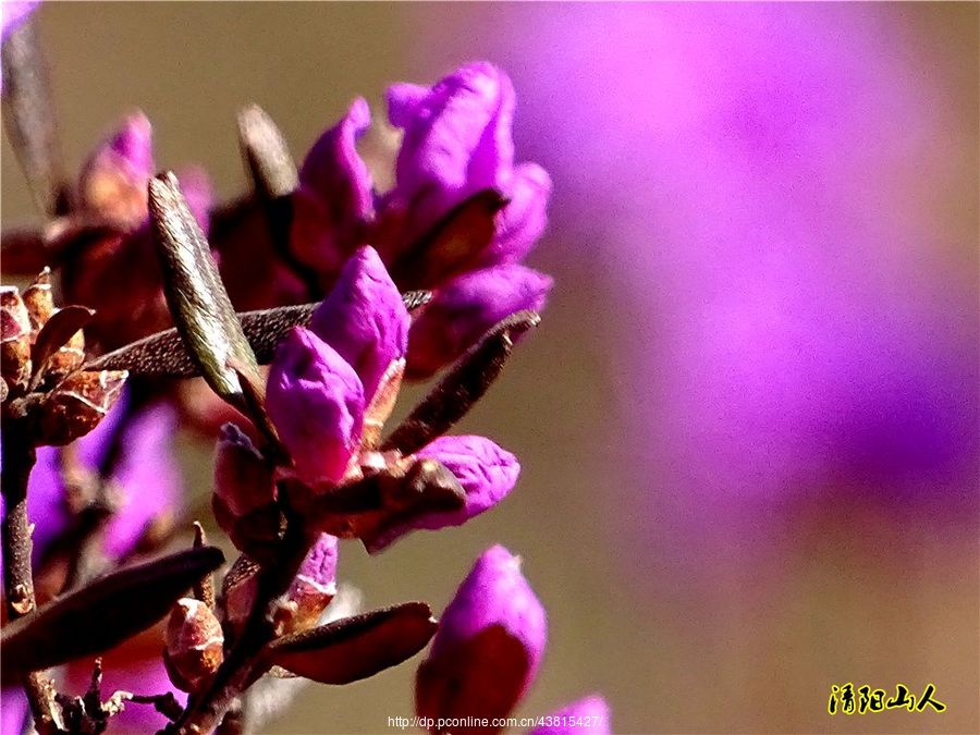
[[211,389],[233,406],[244,408],[242,385],[229,362],[257,375],[255,353],[173,173],[150,180],[149,209],[160,246],[167,301],[184,345]]

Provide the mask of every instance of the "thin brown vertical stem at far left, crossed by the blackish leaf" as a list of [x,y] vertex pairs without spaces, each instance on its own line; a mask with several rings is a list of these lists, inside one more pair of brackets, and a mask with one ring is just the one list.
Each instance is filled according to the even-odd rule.
[[[23,425],[10,421],[3,427],[3,466],[0,488],[7,503],[3,518],[3,590],[9,621],[29,615],[36,607],[34,575],[30,571],[32,526],[27,519],[27,480],[37,458]],[[30,703],[35,727],[42,735],[56,732],[54,684],[41,672],[24,677],[24,690]]]

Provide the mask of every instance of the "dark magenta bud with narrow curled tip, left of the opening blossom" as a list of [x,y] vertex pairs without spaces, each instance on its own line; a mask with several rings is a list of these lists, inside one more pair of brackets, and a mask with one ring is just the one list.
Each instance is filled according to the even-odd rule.
[[314,144],[299,170],[291,244],[296,257],[319,272],[340,269],[371,216],[371,176],[355,147],[370,124],[368,103],[358,97]]

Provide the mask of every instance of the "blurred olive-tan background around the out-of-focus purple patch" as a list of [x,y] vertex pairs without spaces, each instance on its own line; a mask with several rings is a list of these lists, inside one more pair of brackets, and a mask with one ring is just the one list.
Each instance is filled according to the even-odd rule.
[[[245,103],[264,106],[302,156],[353,96],[367,96],[380,117],[387,84],[494,58],[494,34],[522,22],[522,11],[51,2],[39,17],[71,166],[121,112],[139,107],[155,126],[159,167],[199,162],[231,196],[243,186],[233,120]],[[899,19],[948,62],[967,146],[977,70],[961,61],[976,59],[977,20],[976,5]],[[509,71],[520,95],[535,95],[519,64]],[[547,131],[519,128],[518,145],[536,135],[547,140]],[[976,163],[970,150],[964,158]],[[958,196],[966,207],[946,205],[951,226],[976,231],[976,191]],[[977,732],[975,506],[959,523],[919,523],[873,503],[846,514],[800,504],[743,527],[739,551],[716,561],[697,553],[697,538],[683,540],[696,564],[677,562],[683,549],[660,556],[624,532],[637,468],[618,441],[616,412],[628,406],[610,397],[608,324],[626,313],[613,275],[595,270],[601,264],[564,257],[568,243],[593,233],[576,230],[581,218],[562,209],[561,182],[555,197],[551,235],[531,258],[558,280],[547,321],[466,424],[520,456],[517,490],[465,529],[417,534],[378,559],[345,544],[342,579],[364,590],[368,607],[418,598],[439,609],[490,543],[523,554],[549,610],[550,641],[518,714],[598,690],[622,733]],[[5,138],[2,207],[4,224],[32,217]],[[188,457],[200,491],[207,453]],[[385,732],[389,715],[412,713],[413,674],[405,665],[343,689],[310,687],[268,732]],[[950,712],[831,720],[828,684],[842,676],[883,686],[933,679]]]

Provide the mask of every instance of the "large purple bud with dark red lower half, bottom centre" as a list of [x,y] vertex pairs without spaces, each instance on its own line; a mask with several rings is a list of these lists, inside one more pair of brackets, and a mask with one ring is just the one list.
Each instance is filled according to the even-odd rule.
[[547,635],[520,560],[501,546],[488,549],[442,614],[418,670],[416,711],[433,720],[506,716],[534,681]]

